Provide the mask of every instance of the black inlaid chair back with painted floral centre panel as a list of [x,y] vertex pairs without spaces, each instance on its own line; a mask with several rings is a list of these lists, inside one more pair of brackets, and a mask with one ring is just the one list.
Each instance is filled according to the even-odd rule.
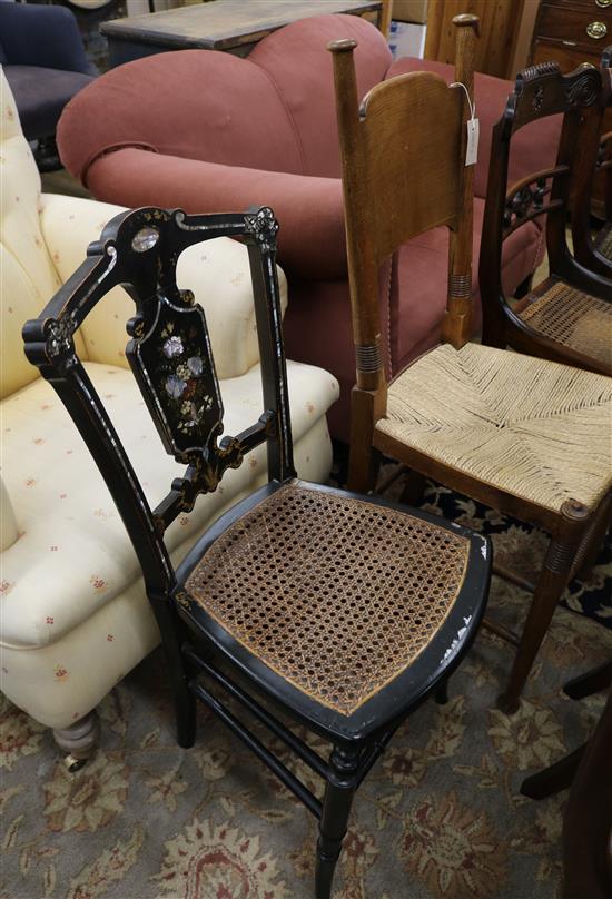
[[[267,443],[269,480],[295,475],[282,313],[275,251],[278,225],[264,207],[245,215],[188,216],[145,208],[115,217],[86,261],[39,318],[23,327],[26,354],[68,408],[124,520],[145,575],[149,597],[174,587],[164,532],[197,496],[215,491],[227,468]],[[194,294],[177,287],[180,254],[214,237],[247,245],[255,296],[263,382],[263,411],[253,426],[224,436],[224,407],[206,318]],[[186,465],[151,508],[130,460],[82,363],[73,335],[116,285],[135,303],[127,323],[126,356],[167,453]]]

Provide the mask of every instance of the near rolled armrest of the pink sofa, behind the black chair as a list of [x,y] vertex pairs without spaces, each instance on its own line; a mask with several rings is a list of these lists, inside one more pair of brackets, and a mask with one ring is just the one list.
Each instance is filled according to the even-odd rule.
[[339,178],[224,166],[136,147],[100,156],[87,170],[100,199],[130,206],[180,206],[187,213],[245,211],[270,206],[279,221],[278,260],[289,276],[346,278]]

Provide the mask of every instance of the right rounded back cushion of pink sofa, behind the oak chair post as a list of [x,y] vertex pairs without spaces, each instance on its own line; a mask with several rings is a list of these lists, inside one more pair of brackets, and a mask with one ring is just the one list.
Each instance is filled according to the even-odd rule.
[[362,98],[383,80],[392,56],[378,29],[359,16],[300,19],[269,34],[249,56],[268,73],[283,98],[299,141],[304,175],[340,177],[334,73],[327,45],[342,38],[357,41],[355,67]]

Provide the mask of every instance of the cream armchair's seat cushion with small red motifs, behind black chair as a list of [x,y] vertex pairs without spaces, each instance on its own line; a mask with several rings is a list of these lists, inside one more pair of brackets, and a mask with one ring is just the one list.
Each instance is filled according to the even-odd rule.
[[[184,473],[162,450],[130,372],[87,363],[137,474],[155,505]],[[289,363],[292,422],[299,439],[337,398],[337,383],[322,369]],[[261,413],[258,367],[221,382],[227,433]],[[112,500],[52,388],[42,379],[2,404],[3,477],[18,510],[21,535],[2,554],[2,642],[40,646],[60,640],[139,576],[136,555]],[[325,443],[320,451],[327,458]],[[259,447],[217,493],[200,497],[170,527],[170,550],[194,539],[228,500],[265,471]],[[326,476],[326,473],[323,475]],[[49,623],[52,619],[52,623]]]

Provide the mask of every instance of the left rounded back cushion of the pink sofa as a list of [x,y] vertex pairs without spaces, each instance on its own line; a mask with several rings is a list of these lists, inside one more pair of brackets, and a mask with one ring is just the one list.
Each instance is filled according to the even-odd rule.
[[214,50],[157,53],[106,72],[65,108],[58,146],[85,182],[89,166],[120,147],[273,171],[302,167],[266,72]]

